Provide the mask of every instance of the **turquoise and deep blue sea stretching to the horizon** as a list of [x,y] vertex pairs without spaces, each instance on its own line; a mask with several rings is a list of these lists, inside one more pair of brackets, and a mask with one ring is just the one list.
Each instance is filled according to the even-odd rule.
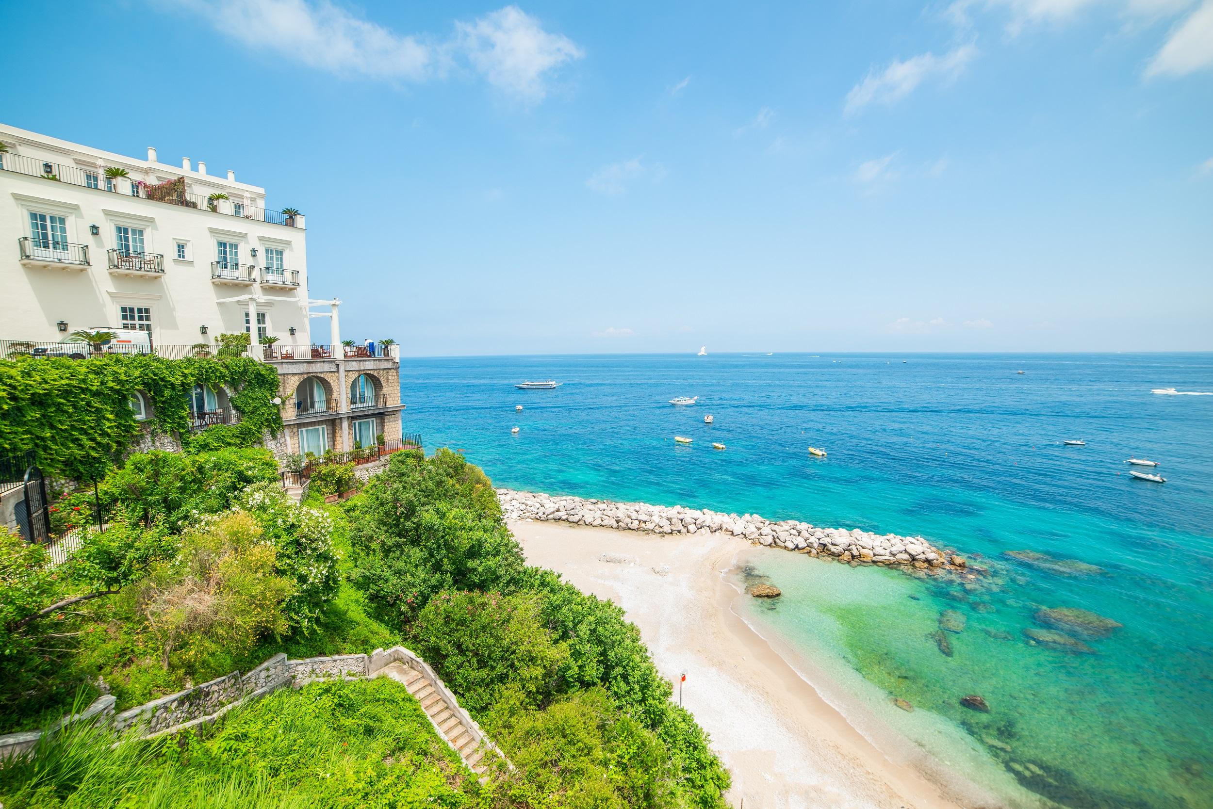
[[[950,742],[907,723],[943,718],[990,767],[1059,805],[1213,807],[1213,395],[1151,393],[1213,392],[1213,355],[404,359],[400,377],[405,432],[463,449],[497,485],[956,548],[989,575],[919,580],[752,554],[751,574],[785,596],[746,617],[861,677],[881,695],[872,710],[939,745],[941,759]],[[546,378],[563,384],[513,387]],[[699,404],[666,404],[677,395]],[[1071,438],[1087,445],[1061,444]],[[1160,461],[1167,483],[1129,478],[1131,456]],[[1123,626],[1071,631],[1086,649],[1065,651],[1024,632],[1047,628],[1044,608]],[[946,633],[951,656],[938,640],[944,610],[966,619]],[[990,712],[962,707],[968,694]]]

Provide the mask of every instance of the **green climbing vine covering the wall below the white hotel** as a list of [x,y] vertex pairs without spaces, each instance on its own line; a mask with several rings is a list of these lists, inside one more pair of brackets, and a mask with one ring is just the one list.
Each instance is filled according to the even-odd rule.
[[[226,389],[239,423],[190,432],[195,384]],[[29,451],[47,475],[96,480],[138,435],[141,422],[131,410],[136,392],[148,404],[143,423],[176,433],[186,451],[255,446],[266,431],[283,427],[273,403],[278,375],[247,357],[17,357],[0,360],[0,456]]]

